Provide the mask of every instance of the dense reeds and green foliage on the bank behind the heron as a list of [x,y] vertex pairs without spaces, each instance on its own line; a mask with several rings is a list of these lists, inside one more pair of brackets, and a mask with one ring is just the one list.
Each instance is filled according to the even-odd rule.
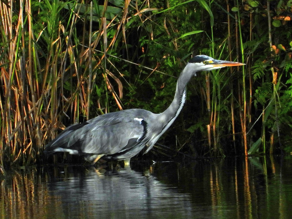
[[162,112],[198,54],[247,65],[194,78],[159,142],[194,157],[292,151],[291,0],[15,0],[0,10],[2,173],[40,163],[69,124]]

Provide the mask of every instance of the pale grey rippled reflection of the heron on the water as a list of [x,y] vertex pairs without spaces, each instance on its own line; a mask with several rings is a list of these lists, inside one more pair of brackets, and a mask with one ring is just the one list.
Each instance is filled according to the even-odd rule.
[[[72,170],[70,170],[72,171]],[[69,218],[82,212],[100,218],[131,218],[164,215],[192,217],[190,195],[160,183],[155,177],[124,168],[100,174],[97,170],[76,172],[50,180],[48,189],[60,200]]]

